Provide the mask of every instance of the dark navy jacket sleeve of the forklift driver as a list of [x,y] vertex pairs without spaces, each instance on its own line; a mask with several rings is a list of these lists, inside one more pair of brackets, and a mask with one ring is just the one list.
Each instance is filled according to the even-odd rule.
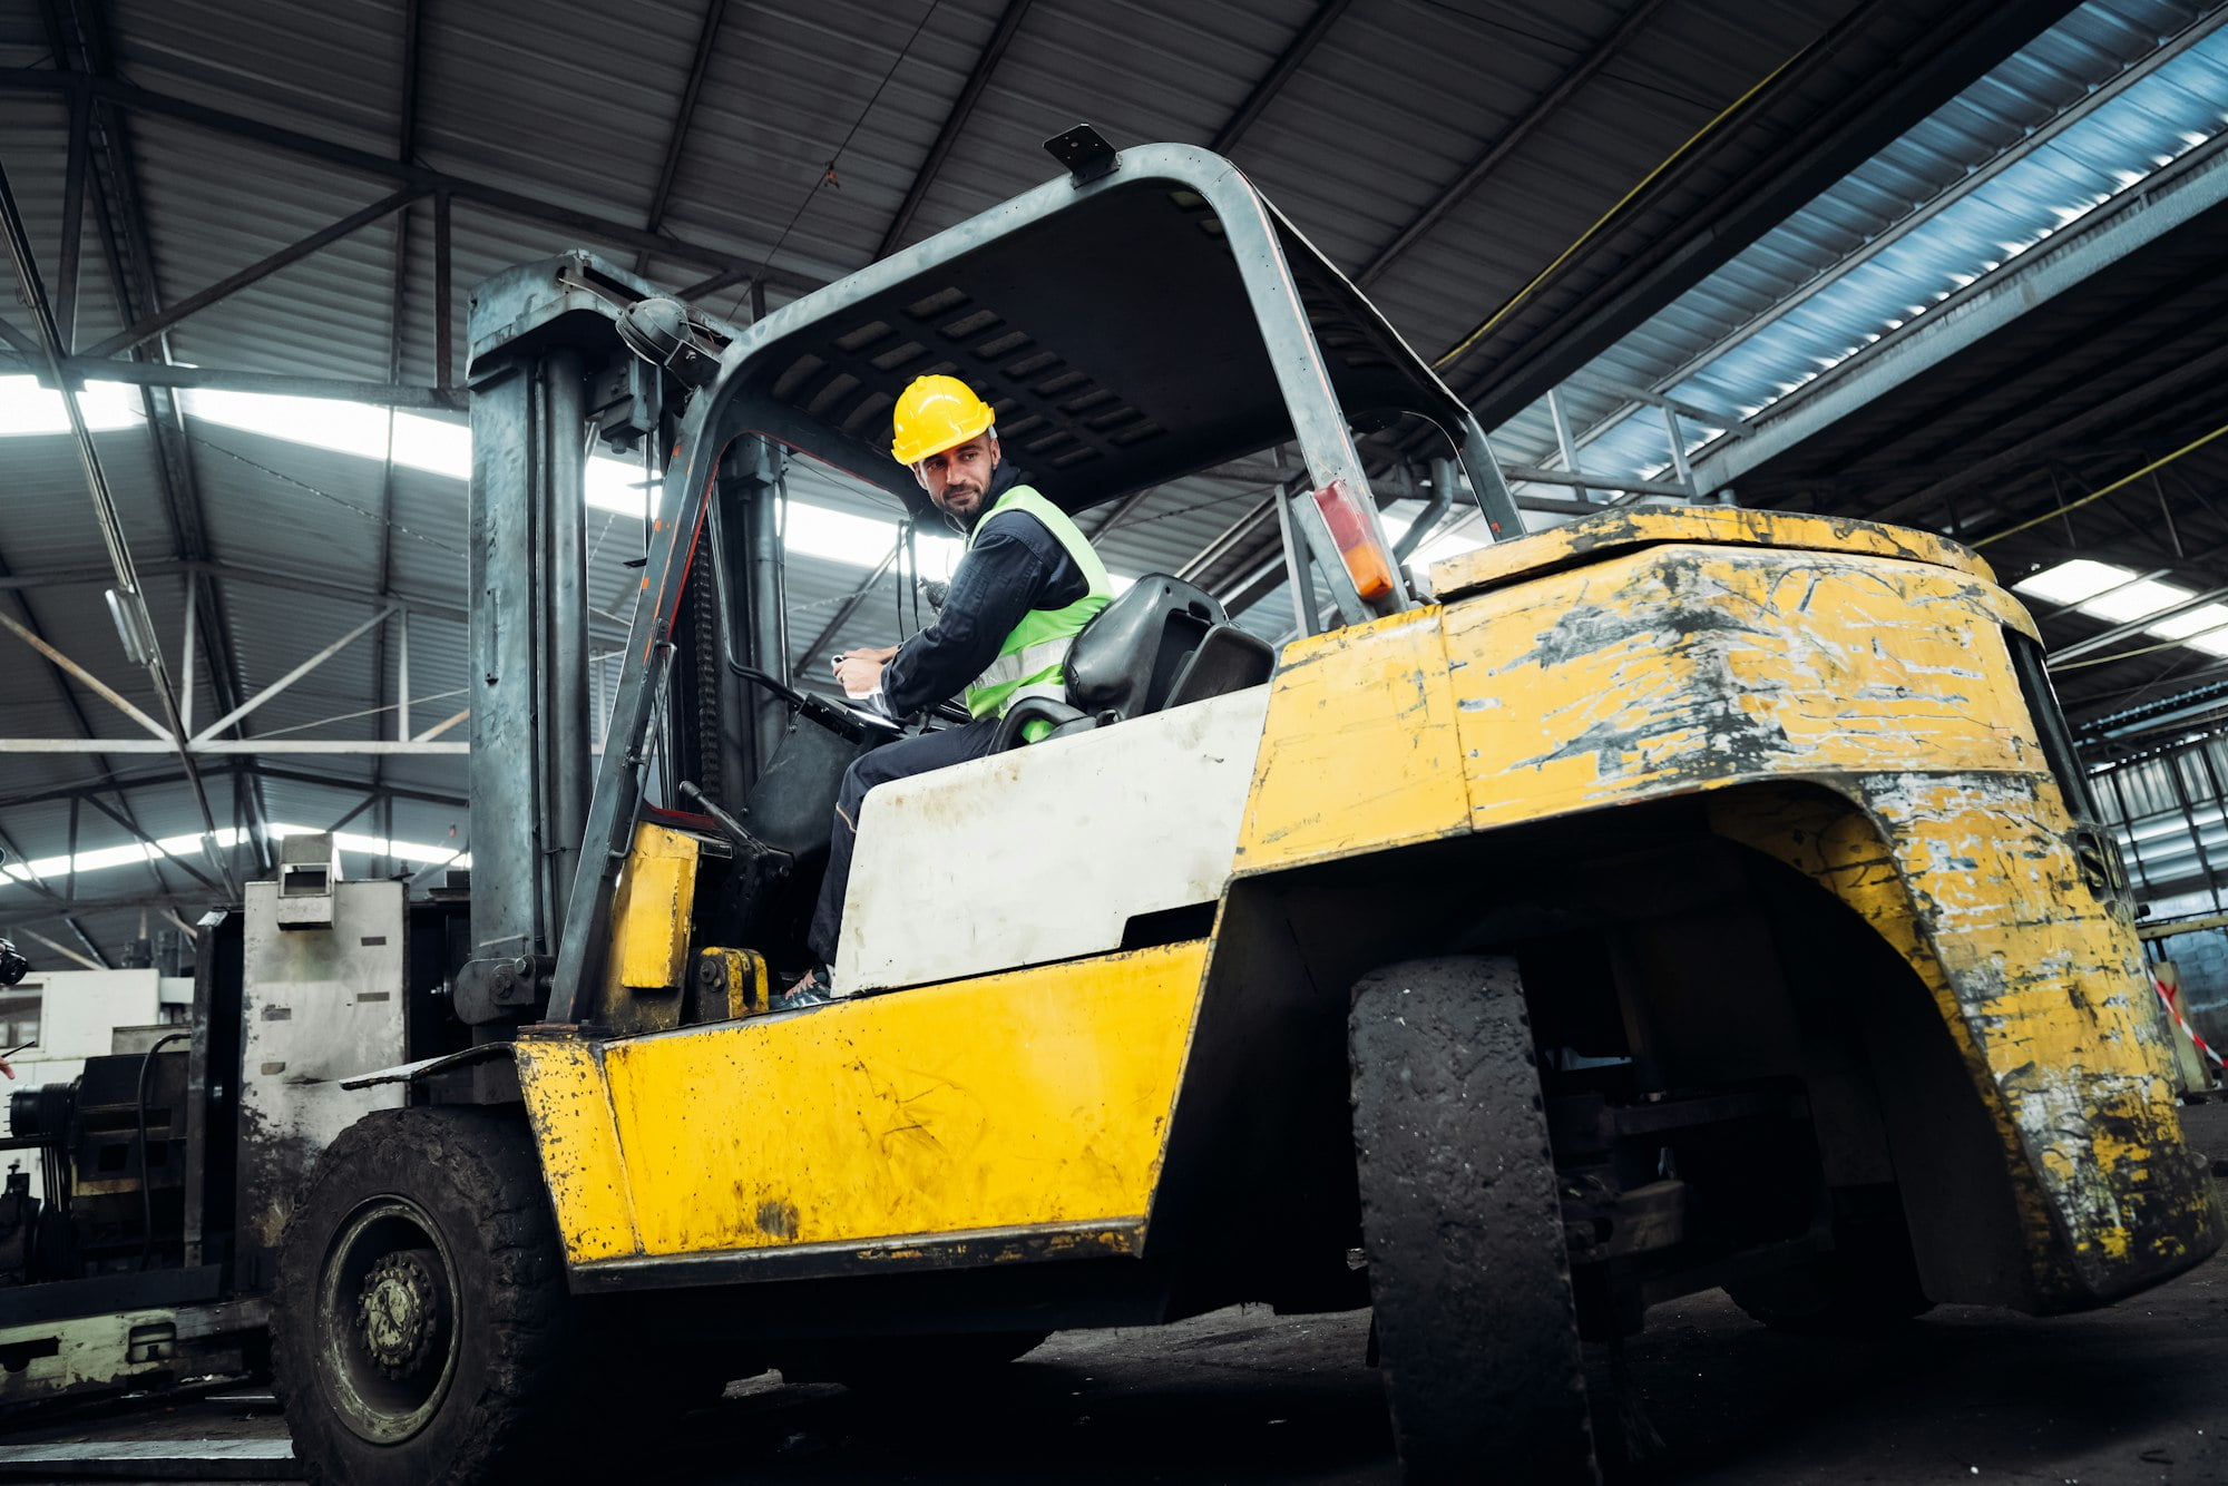
[[882,671],[882,706],[907,717],[956,697],[998,659],[998,646],[1023,615],[1081,599],[1087,584],[1078,579],[1043,521],[1025,510],[989,517],[951,573],[942,613],[898,646]]

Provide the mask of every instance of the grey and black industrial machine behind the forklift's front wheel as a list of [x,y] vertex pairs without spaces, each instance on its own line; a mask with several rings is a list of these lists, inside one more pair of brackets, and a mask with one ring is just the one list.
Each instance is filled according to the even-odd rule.
[[[0,1406],[267,1366],[296,1185],[403,1092],[339,1078],[470,1043],[446,1009],[466,896],[343,882],[330,835],[212,911],[187,1025],[116,1027],[78,1076],[16,1085],[0,1150]],[[461,962],[461,954],[455,956]],[[51,1027],[62,1007],[45,1007]]]

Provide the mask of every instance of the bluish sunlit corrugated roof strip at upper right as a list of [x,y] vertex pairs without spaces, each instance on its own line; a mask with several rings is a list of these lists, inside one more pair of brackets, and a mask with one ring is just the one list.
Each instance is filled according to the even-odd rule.
[[[2224,27],[2179,0],[2081,7],[1589,372],[1736,414],[1769,405],[2228,127]],[[1669,463],[1660,414],[1584,377],[1564,397],[1584,468]],[[1504,430],[1497,448],[1546,459],[1553,432]]]

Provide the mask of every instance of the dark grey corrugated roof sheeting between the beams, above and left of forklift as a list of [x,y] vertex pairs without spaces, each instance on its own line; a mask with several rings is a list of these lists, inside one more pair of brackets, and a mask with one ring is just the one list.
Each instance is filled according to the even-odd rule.
[[[913,185],[929,140],[1003,9],[1003,0],[909,0],[905,7],[829,0],[809,11],[771,2],[729,4],[677,156],[664,229],[744,263],[771,252],[778,272],[802,278],[860,267]],[[1791,2],[1736,7],[1731,0],[1667,4],[1482,189],[1390,265],[1375,287],[1395,325],[1426,352],[1444,348],[1653,167],[1667,140],[1684,138],[1849,9]],[[1448,0],[1352,7],[1239,140],[1234,156],[1332,261],[1355,270],[1433,203],[1484,143],[1522,118],[1544,89],[1597,47],[1626,11],[1629,4],[1609,0],[1580,0],[1553,13]],[[626,225],[646,223],[702,13],[695,0],[646,2],[624,16],[608,7],[528,7],[524,0],[426,7],[417,160],[535,201]],[[405,58],[399,0],[343,11],[285,0],[114,0],[105,16],[118,76],[127,82],[350,149],[392,156],[401,147]],[[907,238],[1052,176],[1038,143],[1078,118],[1098,123],[1116,143],[1212,138],[1312,16],[1310,0],[1032,7],[967,129],[929,183]],[[1876,22],[1878,31],[1867,33],[1863,45],[1789,94],[1778,123],[1800,125],[1860,85],[1900,38],[1927,25],[1916,11],[1880,11]],[[36,20],[13,11],[0,18],[0,62],[53,65]],[[60,221],[62,109],[53,100],[7,96],[0,98],[0,127],[9,127],[11,178],[33,234],[51,236]],[[154,267],[169,299],[214,283],[392,189],[392,183],[361,172],[245,145],[156,114],[131,114],[129,136]],[[1551,323],[1651,234],[1733,189],[1738,172],[1767,156],[1776,138],[1765,127],[1724,140],[1709,169],[1667,192],[1646,214],[1620,223],[1600,261],[1580,265],[1551,294],[1526,305],[1519,327]],[[824,185],[831,158],[836,180]],[[1863,189],[1876,198],[1869,203],[1874,209],[1885,209],[1900,183],[1883,174]],[[176,356],[258,372],[388,377],[397,221],[374,223],[185,321],[172,334]],[[403,379],[430,381],[430,203],[412,207],[408,221],[401,368]],[[1805,227],[1771,252],[1785,272],[1800,272],[1802,263],[1836,243],[1847,247],[1856,232],[1856,221],[1843,214]],[[470,201],[455,203],[459,359],[470,285],[510,263],[570,245],[606,252],[619,263],[635,261],[631,247],[597,243],[593,234],[521,223]],[[659,254],[646,265],[675,285],[709,272],[702,263]],[[100,278],[89,274],[89,290]],[[780,303],[782,294],[773,299]],[[711,307],[726,310],[720,301]],[[114,323],[107,290],[89,292],[80,343],[107,334]],[[450,381],[461,374],[455,365],[446,370]],[[1537,434],[1537,419],[1526,426]],[[446,597],[461,606],[461,481],[397,470],[388,526],[381,528],[377,512],[385,497],[374,461],[205,419],[192,419],[189,428],[209,555],[221,564],[334,588],[370,588],[385,561],[397,593]],[[140,559],[174,557],[145,439],[134,443],[129,434],[105,434],[102,446],[111,450],[111,479]],[[0,459],[36,470],[13,488],[36,490],[38,501],[56,512],[82,510],[82,492],[69,490],[65,441],[13,441],[0,446]],[[891,515],[882,497],[807,470],[798,472],[793,490],[798,499],[838,510]],[[1132,510],[1105,537],[1103,550],[1125,573],[1179,570],[1252,499],[1257,490],[1250,486],[1181,481]],[[9,561],[33,570],[100,561],[98,546],[85,544],[87,521],[58,519],[49,528],[47,521],[22,519],[22,510],[13,499],[0,508],[0,555]],[[590,517],[590,544],[631,544],[631,532],[626,521]],[[867,561],[873,557],[878,553]],[[599,550],[593,579],[593,602],[610,615],[626,610],[631,593],[631,575],[615,559],[617,550]],[[606,561],[608,568],[602,566]],[[804,646],[818,635],[862,579],[864,568],[798,559],[789,575],[793,642]],[[158,622],[169,626],[183,610],[183,586],[165,581],[169,586],[156,595],[156,608]],[[225,577],[221,586],[247,691],[370,613],[365,599],[319,599],[247,575]],[[885,584],[836,644],[885,637],[893,597],[896,586]],[[114,646],[114,635],[98,586],[40,590],[33,604],[51,626],[87,635],[87,651],[98,657],[102,675],[131,675],[118,655],[102,648]],[[1263,604],[1254,622],[1288,628],[1283,599]],[[174,642],[176,630],[169,635]],[[299,726],[365,706],[374,695],[372,657],[370,642],[359,642],[328,671],[258,711],[254,724]],[[377,682],[388,693],[397,664],[390,644],[385,677]],[[463,628],[455,619],[421,615],[412,624],[410,664],[414,695],[463,686]],[[209,700],[198,706],[207,717]],[[437,704],[426,706],[432,711]],[[334,724],[321,733],[352,726]],[[67,775],[60,766],[56,771]],[[267,782],[272,815],[339,815],[361,798],[350,793],[350,784],[368,780],[370,766],[363,760],[330,760],[301,773],[330,778],[332,784]],[[388,760],[383,773],[437,789],[461,786],[452,760]],[[0,793],[25,778],[11,766]],[[218,809],[229,809],[227,791]],[[394,829],[403,833],[405,815],[434,829],[443,809],[399,804]],[[421,820],[421,811],[430,815]],[[9,822],[16,820],[11,811]],[[20,820],[31,822],[25,831],[36,827],[36,833],[47,833],[51,824],[45,815]],[[0,889],[0,913],[7,911],[7,891]]]

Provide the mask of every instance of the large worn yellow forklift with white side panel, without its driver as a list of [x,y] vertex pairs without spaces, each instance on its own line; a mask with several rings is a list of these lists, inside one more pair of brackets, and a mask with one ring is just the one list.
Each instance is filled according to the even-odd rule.
[[[1052,149],[746,327],[588,254],[475,296],[470,1032],[352,1081],[410,1103],[294,1205],[312,1479],[495,1479],[582,1408],[1263,1301],[1375,1308],[1410,1482],[1584,1482],[1582,1343],[1671,1297],[2043,1314],[2219,1245],[1978,557],[1702,506],[1524,537],[1464,403],[1228,160]],[[784,461],[927,515],[887,454],[927,372],[1067,510],[1297,450],[1303,633],[1139,577],[1049,737],[869,798],[836,1000],[769,1009],[893,735],[789,675]],[[1497,539],[1424,584],[1357,448],[1399,419]],[[662,475],[599,757],[590,432]]]

